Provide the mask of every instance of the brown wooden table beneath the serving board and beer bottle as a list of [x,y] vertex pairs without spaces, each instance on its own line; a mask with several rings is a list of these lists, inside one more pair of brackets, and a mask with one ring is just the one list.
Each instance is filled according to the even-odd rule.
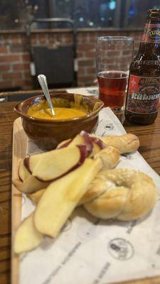
[[[32,96],[37,92],[23,92],[24,96]],[[11,163],[12,163],[12,131],[17,118],[13,107],[21,101],[22,93],[0,94],[1,97],[16,99],[16,102],[0,102],[0,284],[10,284],[10,251],[11,251]],[[18,99],[19,98],[19,99]],[[123,117],[121,116],[123,121]],[[160,111],[154,124],[150,126],[134,126],[124,121],[124,128],[139,137],[139,152],[160,174]],[[128,283],[160,284],[159,278],[151,278]]]

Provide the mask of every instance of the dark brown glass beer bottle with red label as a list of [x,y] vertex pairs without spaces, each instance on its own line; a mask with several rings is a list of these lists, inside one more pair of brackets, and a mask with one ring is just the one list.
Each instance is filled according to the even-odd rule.
[[147,11],[139,52],[129,67],[125,117],[134,124],[152,124],[160,97],[160,10]]

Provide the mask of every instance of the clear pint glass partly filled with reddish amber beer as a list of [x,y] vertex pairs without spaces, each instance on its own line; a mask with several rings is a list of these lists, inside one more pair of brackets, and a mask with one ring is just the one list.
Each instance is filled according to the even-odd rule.
[[134,39],[125,36],[97,38],[96,68],[99,98],[113,111],[122,111],[127,94]]

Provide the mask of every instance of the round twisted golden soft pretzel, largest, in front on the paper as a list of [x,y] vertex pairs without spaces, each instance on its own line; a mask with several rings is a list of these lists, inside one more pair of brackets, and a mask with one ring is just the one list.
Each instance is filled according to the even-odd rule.
[[89,190],[90,195],[100,194],[84,207],[102,219],[138,219],[154,207],[158,197],[154,182],[148,175],[124,168],[101,171]]

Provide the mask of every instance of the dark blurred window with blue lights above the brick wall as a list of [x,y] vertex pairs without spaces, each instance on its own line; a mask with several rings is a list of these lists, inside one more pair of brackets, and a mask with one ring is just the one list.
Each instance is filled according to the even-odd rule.
[[24,28],[32,18],[47,17],[71,18],[76,28],[143,28],[148,9],[160,9],[160,0],[1,0],[0,29]]

